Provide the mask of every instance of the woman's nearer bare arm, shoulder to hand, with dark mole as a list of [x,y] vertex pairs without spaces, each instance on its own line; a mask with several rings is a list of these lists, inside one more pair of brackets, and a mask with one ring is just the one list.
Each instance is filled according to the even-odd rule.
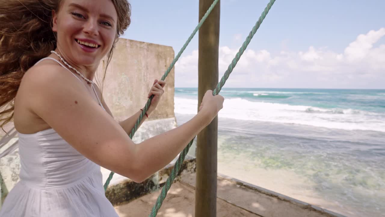
[[203,107],[191,120],[135,144],[82,85],[60,66],[34,66],[23,76],[19,90],[29,94],[31,112],[79,153],[136,182],[170,163],[223,105],[223,97],[208,92]]

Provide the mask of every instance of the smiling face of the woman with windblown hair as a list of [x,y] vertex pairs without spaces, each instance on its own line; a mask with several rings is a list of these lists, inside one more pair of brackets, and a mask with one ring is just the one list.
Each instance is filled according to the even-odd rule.
[[117,13],[111,0],[62,0],[53,13],[53,31],[64,58],[74,64],[97,66],[116,36]]

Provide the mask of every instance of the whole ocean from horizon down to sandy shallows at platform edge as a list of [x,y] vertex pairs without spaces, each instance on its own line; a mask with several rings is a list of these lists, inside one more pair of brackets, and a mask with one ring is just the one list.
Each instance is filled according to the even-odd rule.
[[[349,217],[385,216],[385,90],[220,94],[218,173]],[[178,125],[197,98],[197,88],[175,88]]]

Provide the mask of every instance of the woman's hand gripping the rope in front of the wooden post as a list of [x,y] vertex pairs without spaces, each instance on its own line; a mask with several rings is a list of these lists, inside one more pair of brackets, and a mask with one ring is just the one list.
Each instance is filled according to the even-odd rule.
[[206,111],[212,119],[218,114],[219,110],[223,108],[224,98],[221,95],[213,96],[213,91],[208,90],[203,96],[200,111]]

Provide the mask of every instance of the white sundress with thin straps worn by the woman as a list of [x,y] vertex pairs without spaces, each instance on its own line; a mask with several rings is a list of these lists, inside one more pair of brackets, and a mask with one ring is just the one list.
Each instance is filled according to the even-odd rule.
[[99,165],[52,128],[17,134],[20,181],[5,198],[0,217],[118,217],[105,197]]

